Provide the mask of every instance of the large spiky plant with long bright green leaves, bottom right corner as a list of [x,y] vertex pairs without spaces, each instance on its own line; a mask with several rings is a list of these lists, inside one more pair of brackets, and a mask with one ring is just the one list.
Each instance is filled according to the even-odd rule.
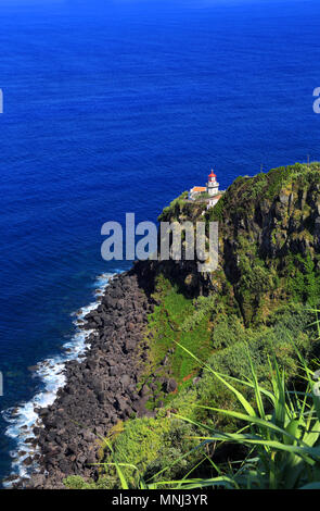
[[[221,375],[202,364],[235,395],[243,411],[202,408],[243,422],[244,427],[236,433],[221,433],[208,424],[179,417],[208,432],[197,437],[202,441],[240,444],[249,451],[238,468],[236,463],[219,468],[219,479],[225,474],[235,488],[320,488],[320,372],[312,373],[298,351],[297,358],[305,391],[287,389],[284,371],[276,359],[270,363],[271,391],[259,385],[252,362],[247,381]],[[254,404],[239,390],[241,386],[253,390]]]

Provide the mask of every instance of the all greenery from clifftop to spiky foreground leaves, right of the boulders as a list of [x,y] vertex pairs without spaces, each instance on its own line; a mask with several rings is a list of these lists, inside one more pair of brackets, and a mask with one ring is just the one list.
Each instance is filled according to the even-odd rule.
[[106,440],[98,483],[68,487],[319,485],[319,191],[320,164],[295,164],[239,177],[209,211],[185,192],[165,208],[161,221],[219,221],[218,270],[158,265],[138,386],[155,416]]

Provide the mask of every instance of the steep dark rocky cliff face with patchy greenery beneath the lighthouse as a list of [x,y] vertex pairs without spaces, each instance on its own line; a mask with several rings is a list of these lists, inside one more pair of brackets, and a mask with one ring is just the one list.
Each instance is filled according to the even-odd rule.
[[[245,323],[282,301],[315,302],[320,294],[320,164],[296,164],[239,177],[206,213],[183,197],[161,220],[219,222],[219,267],[199,274],[179,263],[185,291],[229,295]],[[167,265],[175,278],[175,263]]]

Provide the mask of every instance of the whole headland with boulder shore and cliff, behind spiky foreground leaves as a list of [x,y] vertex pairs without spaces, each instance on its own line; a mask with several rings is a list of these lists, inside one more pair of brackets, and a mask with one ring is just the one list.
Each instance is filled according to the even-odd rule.
[[[196,261],[146,261],[112,282],[86,317],[85,328],[94,331],[86,358],[67,365],[66,387],[39,411],[41,470],[29,487],[59,487],[71,474],[97,478],[91,463],[103,458],[97,435],[119,420],[126,426],[114,440],[118,461],[159,469],[172,438],[183,453],[190,436],[164,421],[171,407],[195,421],[194,403],[233,407],[176,342],[235,377],[249,371],[247,349],[265,378],[274,352],[295,374],[289,337],[309,349],[304,331],[311,320],[300,304],[320,301],[320,164],[239,177],[209,211],[182,195],[159,220],[218,221],[218,269],[204,274]],[[112,481],[103,484],[113,487]]]

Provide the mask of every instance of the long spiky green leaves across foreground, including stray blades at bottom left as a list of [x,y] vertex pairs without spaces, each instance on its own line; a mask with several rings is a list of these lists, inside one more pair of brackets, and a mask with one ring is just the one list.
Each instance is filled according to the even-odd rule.
[[[313,311],[317,314],[320,311]],[[320,339],[320,324],[318,338]],[[320,489],[320,370],[312,371],[300,352],[296,349],[297,365],[299,366],[300,382],[296,390],[290,388],[284,371],[273,359],[269,361],[270,386],[267,388],[258,382],[258,377],[251,360],[251,377],[246,379],[223,375],[203,363],[187,348],[179,345],[192,357],[203,370],[208,371],[214,378],[222,383],[232,392],[241,411],[199,406],[214,414],[223,414],[232,417],[238,423],[243,423],[235,433],[217,431],[208,423],[200,423],[185,416],[175,414],[176,419],[187,421],[197,428],[199,449],[203,446],[215,444],[222,446],[226,443],[246,447],[246,457],[241,461],[232,461],[225,464],[215,463],[214,457],[205,456],[204,460],[212,464],[215,477],[192,478],[191,474],[199,468],[202,461],[189,473],[178,481],[159,481],[159,476],[169,471],[181,458],[175,460],[168,466],[163,468],[149,481],[135,464],[121,463],[116,459],[113,446],[106,438],[103,443],[111,450],[113,463],[99,463],[108,469],[114,466],[123,489],[192,489],[199,487],[225,487],[247,489]],[[315,362],[320,366],[319,362]],[[241,388],[248,389],[253,399],[248,401],[247,395]],[[194,404],[195,407],[197,404]],[[202,433],[202,432],[207,432]],[[183,454],[188,457],[190,452]],[[127,481],[123,469],[131,469],[133,477]],[[133,483],[132,483],[133,481]]]

